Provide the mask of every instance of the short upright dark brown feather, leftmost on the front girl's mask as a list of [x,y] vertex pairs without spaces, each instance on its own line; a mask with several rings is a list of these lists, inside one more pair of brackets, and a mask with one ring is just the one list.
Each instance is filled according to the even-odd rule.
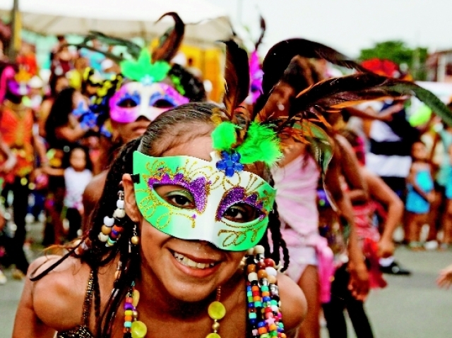
[[226,44],[226,91],[223,103],[226,110],[232,114],[248,96],[248,54],[232,40],[224,41],[224,43]]

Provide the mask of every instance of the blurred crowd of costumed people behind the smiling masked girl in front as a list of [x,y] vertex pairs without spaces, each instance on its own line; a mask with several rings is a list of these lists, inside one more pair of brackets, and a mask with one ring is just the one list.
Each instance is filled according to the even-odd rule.
[[[150,114],[161,114],[169,107],[189,101],[182,97],[177,103],[177,95],[173,94],[174,102],[162,96],[153,102],[154,110],[145,114],[136,112],[130,119],[125,115],[115,118],[111,112],[110,116],[102,115],[102,109],[96,109],[105,108],[105,105],[112,107],[112,101],[108,99],[119,90],[123,76],[117,60],[106,56],[111,52],[109,48],[94,39],[85,47],[72,49],[64,37],[58,37],[49,56],[48,79],[40,77],[35,54],[28,44],[24,44],[14,65],[2,61],[0,171],[4,210],[0,217],[0,263],[14,265],[15,278],[23,278],[28,270],[26,223],[43,222],[42,246],[77,239],[88,229],[88,216],[97,203],[93,195],[101,193],[102,189],[91,191],[88,197],[85,191],[96,177],[103,177],[105,181],[105,170],[119,147],[145,131],[153,121]],[[197,68],[189,63],[184,71],[177,68],[172,71],[179,71],[169,76],[179,93],[184,92],[191,101],[206,98],[205,92],[198,95],[200,90],[194,90],[202,78]],[[313,78],[307,83],[338,76],[338,71],[324,60],[317,61],[311,71]],[[319,78],[314,79],[314,73]],[[397,77],[400,76],[403,74],[398,72]],[[187,77],[189,86],[181,89]],[[145,83],[145,79],[141,79],[141,83]],[[166,90],[166,93],[171,92]],[[149,97],[153,99],[152,95]],[[139,101],[136,92],[129,90],[118,106],[136,107]],[[254,104],[251,99],[245,103]],[[331,152],[335,153],[328,171],[333,173],[328,176],[332,178],[326,184],[334,200],[340,201],[338,206],[343,215],[346,214],[344,210],[352,208],[354,220],[351,222],[357,225],[373,287],[386,285],[381,272],[410,274],[393,258],[393,238],[397,229],[403,229],[400,243],[413,251],[446,251],[452,246],[452,128],[435,117],[434,111],[427,111],[427,119],[422,123],[410,121],[409,104],[410,97],[367,102],[345,108],[341,114],[329,114],[325,121],[331,127],[328,135],[334,145]],[[147,102],[145,106],[148,106]],[[305,223],[312,217],[315,234],[327,240],[325,246],[329,246],[335,259],[341,262],[335,265],[338,268],[333,272],[334,282],[331,283],[331,279],[327,282],[333,294],[343,295],[340,301],[326,301],[323,306],[328,330],[333,332],[337,329],[335,325],[342,325],[335,322],[335,318],[340,318],[338,311],[347,307],[349,313],[357,313],[355,320],[364,327],[361,337],[371,337],[365,314],[359,316],[364,313],[364,297],[359,298],[358,292],[353,298],[347,291],[350,273],[358,274],[357,279],[366,279],[359,276],[359,269],[353,270],[350,264],[347,266],[343,228],[348,221],[331,205],[331,196],[324,189],[319,168],[307,150],[293,145],[285,156],[284,170],[275,169],[273,176],[280,194],[278,210],[282,222],[287,224],[282,230],[283,237],[290,255],[303,258],[294,258],[287,270],[290,277],[303,285],[302,289],[307,288],[304,291],[308,298],[308,317],[302,330],[306,337],[311,337],[307,332],[316,331],[320,305],[310,308],[309,304],[319,302],[310,303],[309,297],[317,297],[319,301],[322,297],[314,291],[309,292],[309,287],[318,281],[315,277],[318,272],[311,267],[323,259],[320,248],[323,242],[317,238],[320,236],[311,236],[309,229],[303,235],[306,235],[303,241],[315,241],[315,250],[314,245],[308,248],[313,249],[312,252],[300,248],[301,235],[295,227],[299,217]],[[292,173],[294,166],[297,170],[302,168],[301,171]],[[95,185],[94,189],[99,190],[99,186]],[[287,196],[302,192],[315,200],[316,212],[306,210],[303,214],[303,203],[291,204],[293,201]],[[350,205],[347,204],[349,201]],[[294,210],[297,212],[292,215]],[[303,227],[307,227],[306,224]],[[304,279],[311,282],[304,283]],[[4,283],[6,277],[0,270],[0,284]],[[362,291],[362,294],[366,292]]]

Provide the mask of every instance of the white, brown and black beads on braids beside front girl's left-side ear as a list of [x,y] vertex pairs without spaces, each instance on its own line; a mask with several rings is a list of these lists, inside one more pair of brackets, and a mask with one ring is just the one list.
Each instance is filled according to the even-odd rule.
[[[116,201],[117,209],[113,212],[113,217],[104,217],[104,225],[100,230],[99,236],[97,238],[99,241],[105,243],[105,246],[114,246],[121,232],[123,231],[123,218],[126,216],[126,210],[124,210],[124,191],[118,191],[118,200]],[[131,239],[131,241],[136,241],[138,243],[138,237],[136,239]]]

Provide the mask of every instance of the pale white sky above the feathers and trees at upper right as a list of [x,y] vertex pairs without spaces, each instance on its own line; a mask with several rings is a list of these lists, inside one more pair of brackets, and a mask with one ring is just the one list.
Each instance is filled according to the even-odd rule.
[[[451,0],[208,0],[225,8],[258,37],[259,13],[267,31],[260,51],[290,37],[327,44],[351,57],[376,42],[403,40],[429,52],[452,49]],[[240,14],[239,14],[240,13]]]

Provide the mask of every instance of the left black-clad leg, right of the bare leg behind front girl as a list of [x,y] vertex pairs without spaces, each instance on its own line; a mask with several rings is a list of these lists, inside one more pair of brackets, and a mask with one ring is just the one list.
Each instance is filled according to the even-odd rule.
[[330,338],[347,338],[347,322],[345,322],[345,291],[348,278],[345,265],[336,270],[331,283],[331,300],[322,305],[323,315]]

